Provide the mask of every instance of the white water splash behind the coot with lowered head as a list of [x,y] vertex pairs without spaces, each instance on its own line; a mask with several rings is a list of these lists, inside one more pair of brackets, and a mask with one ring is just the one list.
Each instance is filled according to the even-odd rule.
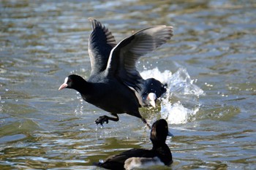
[[186,69],[180,68],[172,74],[169,70],[160,72],[158,68],[140,73],[143,79],[153,77],[167,84],[167,93],[161,98],[161,117],[168,123],[187,123],[199,110],[199,96],[202,89],[194,85]]

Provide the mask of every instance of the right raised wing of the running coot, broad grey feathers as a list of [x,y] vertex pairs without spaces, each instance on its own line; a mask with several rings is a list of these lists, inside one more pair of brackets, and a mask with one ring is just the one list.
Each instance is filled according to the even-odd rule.
[[106,73],[113,74],[135,90],[140,89],[142,78],[136,69],[136,61],[167,42],[171,36],[173,27],[152,26],[127,37],[111,50]]

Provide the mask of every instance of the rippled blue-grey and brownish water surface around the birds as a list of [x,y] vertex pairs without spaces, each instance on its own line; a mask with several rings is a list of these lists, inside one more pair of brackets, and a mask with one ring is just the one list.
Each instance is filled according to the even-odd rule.
[[[167,44],[140,58],[143,77],[168,84],[157,109],[175,135],[169,169],[255,169],[255,1],[0,1],[0,169],[99,169],[93,162],[151,148],[141,121],[108,114],[61,90],[89,77],[97,18],[117,41],[146,26],[173,26]],[[166,169],[166,167],[159,167]]]

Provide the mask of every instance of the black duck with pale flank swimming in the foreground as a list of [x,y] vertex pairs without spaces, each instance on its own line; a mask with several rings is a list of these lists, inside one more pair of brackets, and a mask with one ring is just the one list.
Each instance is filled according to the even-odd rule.
[[113,155],[103,163],[94,163],[105,169],[141,169],[148,166],[170,166],[173,163],[172,153],[165,144],[167,136],[172,136],[168,132],[166,120],[157,120],[151,128],[150,139],[153,144],[151,150],[132,149]]

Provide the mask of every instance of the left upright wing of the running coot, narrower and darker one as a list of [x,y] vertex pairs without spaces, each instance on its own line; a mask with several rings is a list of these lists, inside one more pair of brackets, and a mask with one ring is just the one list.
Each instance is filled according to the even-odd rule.
[[102,23],[93,18],[89,20],[92,25],[88,48],[91,74],[98,74],[106,69],[110,51],[116,46],[116,39]]

